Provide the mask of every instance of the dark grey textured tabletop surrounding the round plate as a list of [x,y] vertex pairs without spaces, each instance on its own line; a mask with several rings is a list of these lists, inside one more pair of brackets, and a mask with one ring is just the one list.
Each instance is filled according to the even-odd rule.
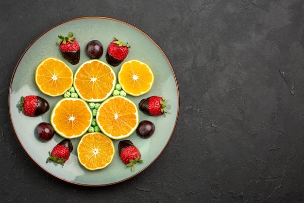
[[[175,71],[180,112],[166,150],[112,186],[58,180],[12,129],[10,79],[40,34],[75,17],[141,29]],[[304,202],[303,0],[0,2],[1,202]]]

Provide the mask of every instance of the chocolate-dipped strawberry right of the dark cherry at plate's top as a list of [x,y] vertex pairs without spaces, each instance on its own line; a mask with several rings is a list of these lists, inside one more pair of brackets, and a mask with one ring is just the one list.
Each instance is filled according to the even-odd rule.
[[110,43],[105,58],[111,66],[118,66],[129,53],[128,42],[123,43],[115,37]]

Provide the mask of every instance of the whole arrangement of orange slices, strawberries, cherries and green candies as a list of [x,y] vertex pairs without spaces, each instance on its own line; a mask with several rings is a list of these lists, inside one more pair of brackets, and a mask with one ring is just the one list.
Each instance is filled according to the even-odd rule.
[[[78,64],[80,46],[73,33],[58,37],[62,56],[70,64]],[[85,169],[103,169],[113,161],[113,140],[121,140],[117,147],[124,165],[134,171],[137,162],[143,163],[133,142],[122,139],[134,132],[144,139],[151,137],[155,125],[150,120],[140,121],[138,109],[153,117],[166,115],[166,100],[151,96],[142,99],[138,107],[132,101],[132,97],[151,90],[154,74],[146,63],[131,59],[120,66],[116,75],[113,67],[126,59],[129,49],[128,43],[115,37],[107,48],[106,63],[100,60],[101,42],[91,40],[85,47],[88,60],[79,65],[75,73],[64,61],[54,57],[44,59],[37,66],[35,83],[39,90],[51,97],[62,96],[52,107],[50,123],[41,122],[35,129],[35,136],[41,142],[50,141],[55,133],[64,138],[49,152],[47,163],[64,165],[73,150],[71,139],[77,137],[80,137],[77,157]],[[50,109],[48,101],[33,95],[21,97],[18,107],[30,117],[40,116]]]

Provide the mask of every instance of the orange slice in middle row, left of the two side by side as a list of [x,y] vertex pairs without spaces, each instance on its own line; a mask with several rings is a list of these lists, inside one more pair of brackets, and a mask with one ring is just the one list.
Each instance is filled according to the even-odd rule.
[[76,138],[84,135],[92,122],[92,111],[88,104],[79,98],[59,100],[51,112],[51,125],[58,135]]

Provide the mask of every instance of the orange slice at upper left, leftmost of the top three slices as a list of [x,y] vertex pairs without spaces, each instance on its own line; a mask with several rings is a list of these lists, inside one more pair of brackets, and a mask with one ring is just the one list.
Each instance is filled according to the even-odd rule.
[[35,82],[41,92],[56,97],[72,86],[73,72],[65,62],[49,57],[37,66]]

